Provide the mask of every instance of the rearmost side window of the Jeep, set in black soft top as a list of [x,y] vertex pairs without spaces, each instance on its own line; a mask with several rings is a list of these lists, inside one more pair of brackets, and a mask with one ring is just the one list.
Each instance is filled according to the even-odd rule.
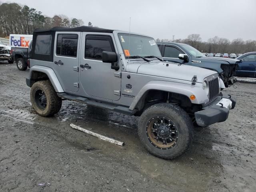
[[36,54],[50,55],[52,45],[52,36],[51,35],[38,35],[36,37]]

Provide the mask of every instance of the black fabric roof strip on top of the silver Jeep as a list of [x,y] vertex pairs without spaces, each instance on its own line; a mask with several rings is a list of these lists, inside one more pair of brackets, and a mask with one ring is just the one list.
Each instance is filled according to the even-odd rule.
[[114,30],[97,28],[97,27],[89,27],[89,26],[80,26],[75,28],[54,27],[51,29],[35,29],[34,30],[34,32],[48,32],[48,31],[76,31],[76,32],[81,31],[81,32],[113,33]]

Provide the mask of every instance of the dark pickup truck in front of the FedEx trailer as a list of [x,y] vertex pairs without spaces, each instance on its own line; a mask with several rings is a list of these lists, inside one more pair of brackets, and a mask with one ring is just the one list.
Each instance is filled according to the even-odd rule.
[[12,54],[12,59],[16,61],[18,70],[26,70],[30,68],[28,59],[30,58],[30,52],[32,48],[32,41],[28,48],[12,47],[10,53]]

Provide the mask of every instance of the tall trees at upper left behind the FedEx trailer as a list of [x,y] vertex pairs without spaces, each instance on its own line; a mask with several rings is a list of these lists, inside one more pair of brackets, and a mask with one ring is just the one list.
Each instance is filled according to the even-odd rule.
[[[42,12],[17,3],[0,4],[0,37],[10,34],[33,34],[36,28],[52,28],[55,26],[78,27],[84,25],[81,19],[68,18],[65,15],[48,17]],[[92,26],[89,22],[88,26]]]

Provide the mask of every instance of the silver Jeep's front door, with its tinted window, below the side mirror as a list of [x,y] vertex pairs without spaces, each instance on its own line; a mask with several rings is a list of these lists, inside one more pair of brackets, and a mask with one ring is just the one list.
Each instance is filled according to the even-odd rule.
[[[102,52],[117,52],[113,34],[95,35],[83,32],[80,54],[80,82],[86,97],[119,100],[121,78],[118,71],[111,69],[111,63],[102,62]],[[118,57],[118,54],[117,54]],[[118,63],[120,59],[118,57]],[[118,77],[119,76],[119,77]]]

